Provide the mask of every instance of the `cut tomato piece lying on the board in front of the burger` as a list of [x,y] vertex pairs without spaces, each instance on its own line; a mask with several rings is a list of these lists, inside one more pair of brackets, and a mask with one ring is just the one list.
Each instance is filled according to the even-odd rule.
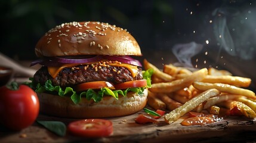
[[109,136],[113,133],[113,125],[110,120],[85,119],[71,122],[67,129],[72,135],[88,138]]

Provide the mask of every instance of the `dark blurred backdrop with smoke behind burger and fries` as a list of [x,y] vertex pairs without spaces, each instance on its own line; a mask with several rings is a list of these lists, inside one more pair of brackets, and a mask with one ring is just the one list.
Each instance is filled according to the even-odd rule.
[[159,68],[178,61],[172,52],[175,45],[195,42],[202,49],[183,56],[192,57],[193,67],[230,70],[251,77],[255,87],[255,1],[10,0],[0,4],[0,52],[17,61],[36,60],[36,42],[56,25],[101,21],[128,29],[143,58]]

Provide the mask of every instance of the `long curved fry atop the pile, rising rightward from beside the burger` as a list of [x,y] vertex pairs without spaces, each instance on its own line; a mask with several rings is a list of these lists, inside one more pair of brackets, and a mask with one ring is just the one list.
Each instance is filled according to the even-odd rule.
[[164,82],[164,83],[154,83],[152,84],[152,88],[149,90],[156,93],[169,93],[178,91],[180,89],[186,88],[191,85],[195,81],[201,81],[208,74],[208,70],[206,68],[194,71],[193,74],[184,78],[174,80],[172,82]]

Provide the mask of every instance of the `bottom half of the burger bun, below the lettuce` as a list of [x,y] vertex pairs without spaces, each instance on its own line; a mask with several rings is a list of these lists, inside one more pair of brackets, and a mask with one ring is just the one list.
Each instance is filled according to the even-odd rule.
[[147,92],[145,89],[143,96],[128,92],[127,97],[119,95],[118,100],[106,95],[97,103],[82,98],[78,104],[74,104],[70,97],[45,93],[37,95],[42,113],[69,118],[103,118],[125,116],[142,110],[147,103]]

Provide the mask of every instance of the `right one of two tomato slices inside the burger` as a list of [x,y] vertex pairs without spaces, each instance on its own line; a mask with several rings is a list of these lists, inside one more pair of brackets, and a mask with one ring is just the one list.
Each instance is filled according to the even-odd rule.
[[115,85],[115,89],[141,88],[147,86],[147,80],[132,80],[129,82],[119,83]]

